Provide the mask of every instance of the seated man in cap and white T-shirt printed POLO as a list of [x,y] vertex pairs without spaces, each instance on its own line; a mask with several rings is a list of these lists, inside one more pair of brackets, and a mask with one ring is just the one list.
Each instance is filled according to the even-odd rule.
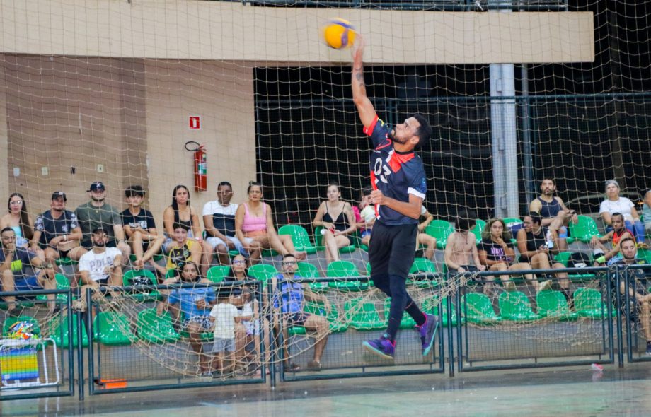
[[91,233],[93,249],[79,259],[81,298],[75,300],[75,310],[86,309],[86,289],[100,286],[122,286],[122,252],[117,247],[106,247],[108,233],[103,228]]

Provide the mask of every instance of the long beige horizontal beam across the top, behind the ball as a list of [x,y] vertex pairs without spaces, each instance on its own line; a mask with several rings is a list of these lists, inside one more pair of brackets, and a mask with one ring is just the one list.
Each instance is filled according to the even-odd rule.
[[1,0],[0,52],[251,61],[350,61],[318,27],[347,18],[366,61],[490,64],[594,60],[592,13],[265,8],[221,1]]

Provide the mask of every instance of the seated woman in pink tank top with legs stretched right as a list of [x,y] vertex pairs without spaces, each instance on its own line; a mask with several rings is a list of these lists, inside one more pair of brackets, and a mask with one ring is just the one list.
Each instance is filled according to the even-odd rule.
[[235,213],[235,233],[249,254],[251,264],[260,260],[263,249],[274,249],[284,254],[294,254],[305,259],[305,252],[296,252],[289,235],[278,235],[272,220],[269,204],[262,201],[263,188],[257,182],[249,182],[248,201],[240,204]]

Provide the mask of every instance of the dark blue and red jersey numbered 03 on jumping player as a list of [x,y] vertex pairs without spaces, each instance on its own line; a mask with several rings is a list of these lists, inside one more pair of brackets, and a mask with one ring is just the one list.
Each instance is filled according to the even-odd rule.
[[[425,199],[427,182],[420,156],[413,152],[399,153],[389,138],[391,128],[375,117],[364,133],[371,136],[374,150],[370,156],[371,186],[398,201],[409,201],[409,194]],[[376,206],[376,218],[385,225],[418,224],[418,219],[398,213],[387,206]]]

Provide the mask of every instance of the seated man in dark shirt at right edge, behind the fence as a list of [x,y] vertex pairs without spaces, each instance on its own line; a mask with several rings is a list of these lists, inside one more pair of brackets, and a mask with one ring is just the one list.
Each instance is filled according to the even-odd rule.
[[[619,242],[621,247],[622,259],[618,259],[615,262],[615,265],[646,265],[647,262],[644,259],[638,259],[638,248],[635,245],[635,240],[633,237],[623,237]],[[650,270],[644,269],[625,269],[624,274],[621,277],[620,291],[621,294],[626,294],[626,283],[628,282],[628,297],[633,305],[630,307],[630,317],[631,321],[635,321],[636,318],[640,319],[640,324],[642,324],[642,331],[644,333],[645,339],[647,339],[647,351],[646,355],[651,356],[651,294],[649,294],[649,286],[651,280],[647,279],[645,272]],[[622,299],[622,315],[626,315],[626,305],[624,302],[626,299]]]

